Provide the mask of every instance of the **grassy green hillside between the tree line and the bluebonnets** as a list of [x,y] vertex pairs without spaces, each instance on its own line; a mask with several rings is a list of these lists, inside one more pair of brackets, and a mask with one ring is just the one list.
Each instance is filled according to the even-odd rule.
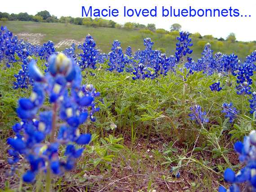
[[[162,48],[168,55],[174,54],[175,52],[176,35],[174,34],[144,34],[136,30],[129,31],[125,29],[104,27],[93,28],[62,23],[0,21],[0,25],[7,26],[10,31],[13,31],[14,34],[43,34],[44,36],[39,39],[40,43],[52,40],[54,44],[58,44],[65,39],[74,39],[81,42],[84,37],[90,33],[96,40],[97,47],[106,53],[110,51],[111,44],[115,39],[121,41],[121,46],[124,50],[128,46],[132,47],[133,52],[138,48],[143,49],[143,38],[145,37],[150,37],[154,41],[154,49]],[[256,49],[256,43],[253,42],[230,43],[227,41],[218,41],[214,38],[199,39],[193,35],[192,40],[194,43],[194,58],[201,57],[200,54],[203,50],[203,46],[207,42],[212,44],[212,49],[215,52],[220,51],[227,54],[234,52],[238,55],[238,57],[241,58],[241,60]],[[65,45],[61,45],[58,50],[62,50],[63,48],[65,48]]]

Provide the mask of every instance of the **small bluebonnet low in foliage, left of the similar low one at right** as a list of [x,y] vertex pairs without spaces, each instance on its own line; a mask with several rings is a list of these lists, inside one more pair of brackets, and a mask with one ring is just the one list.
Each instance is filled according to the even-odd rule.
[[192,113],[189,114],[190,120],[195,120],[197,124],[203,125],[205,122],[209,122],[209,119],[206,118],[206,112],[202,112],[200,105],[194,105],[190,107]]

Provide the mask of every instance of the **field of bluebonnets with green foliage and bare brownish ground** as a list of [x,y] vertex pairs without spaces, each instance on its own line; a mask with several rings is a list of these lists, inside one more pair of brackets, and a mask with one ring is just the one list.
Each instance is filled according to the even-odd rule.
[[57,52],[1,26],[1,190],[256,191],[256,51],[144,46]]

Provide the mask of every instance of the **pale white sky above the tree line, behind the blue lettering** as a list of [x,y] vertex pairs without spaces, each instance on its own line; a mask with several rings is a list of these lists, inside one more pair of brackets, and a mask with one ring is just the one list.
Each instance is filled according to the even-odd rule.
[[[156,28],[170,29],[179,23],[182,30],[201,35],[213,35],[226,38],[231,32],[239,41],[256,40],[256,0],[1,0],[0,12],[27,12],[35,15],[42,10],[57,16],[82,17],[82,6],[87,9],[118,9],[118,17],[103,17],[120,24],[138,22],[154,23]],[[127,9],[153,9],[157,6],[157,17],[124,17],[124,6]],[[239,9],[243,17],[162,17],[162,6],[170,9]],[[244,17],[247,15],[247,17]],[[248,17],[251,15],[251,17]]]

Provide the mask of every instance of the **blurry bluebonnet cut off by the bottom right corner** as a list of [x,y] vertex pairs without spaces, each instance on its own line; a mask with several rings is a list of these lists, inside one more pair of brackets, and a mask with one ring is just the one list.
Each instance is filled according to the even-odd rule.
[[[245,166],[237,174],[230,168],[225,170],[224,179],[232,184],[229,191],[241,191],[240,183],[246,183],[247,191],[256,191],[256,131],[253,130],[249,136],[245,136],[243,142],[237,141],[234,150],[239,155],[239,161]],[[219,192],[228,190],[221,186]]]

